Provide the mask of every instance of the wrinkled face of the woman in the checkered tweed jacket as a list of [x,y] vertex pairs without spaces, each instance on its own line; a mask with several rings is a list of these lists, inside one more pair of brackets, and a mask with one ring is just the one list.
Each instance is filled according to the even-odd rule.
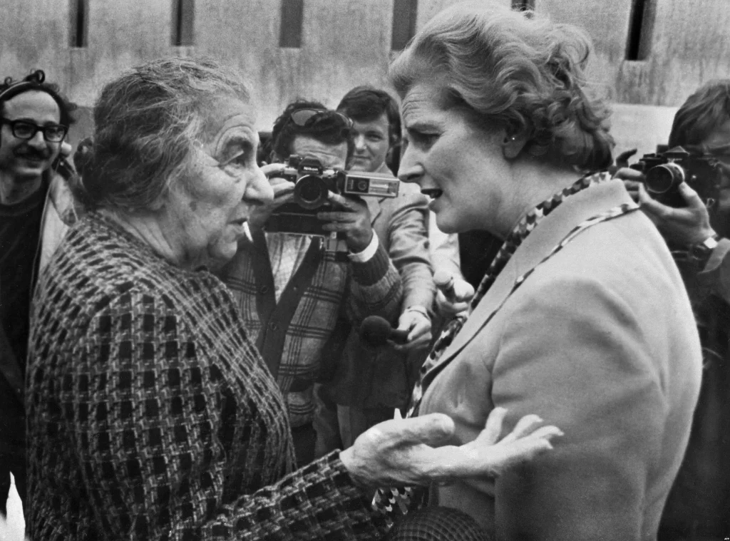
[[245,235],[251,207],[272,199],[269,181],[256,164],[254,123],[250,104],[218,101],[188,179],[171,190],[165,222],[169,234],[177,236],[183,264],[228,261]]

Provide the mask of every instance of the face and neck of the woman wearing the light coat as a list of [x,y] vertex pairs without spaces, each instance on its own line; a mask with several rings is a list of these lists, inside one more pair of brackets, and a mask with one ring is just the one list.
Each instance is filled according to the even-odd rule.
[[481,229],[501,234],[510,199],[509,166],[502,155],[501,130],[475,127],[460,109],[439,104],[439,87],[415,85],[401,106],[403,144],[398,176],[418,183],[431,197],[439,229],[446,233]]

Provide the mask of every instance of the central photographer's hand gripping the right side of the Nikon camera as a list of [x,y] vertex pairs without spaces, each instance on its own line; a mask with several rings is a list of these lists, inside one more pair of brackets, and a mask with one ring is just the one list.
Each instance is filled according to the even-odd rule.
[[344,234],[347,249],[352,253],[365,250],[374,235],[367,204],[362,199],[333,192],[329,193],[329,201],[335,210],[317,214],[317,218],[328,222],[322,229]]

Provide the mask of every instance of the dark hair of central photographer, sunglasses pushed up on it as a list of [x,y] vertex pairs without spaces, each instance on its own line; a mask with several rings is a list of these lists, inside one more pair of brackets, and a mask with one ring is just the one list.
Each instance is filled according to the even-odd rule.
[[[313,123],[311,126],[296,126],[291,122],[291,115],[303,109],[312,109],[322,112],[329,112],[331,116],[325,115],[323,121]],[[353,153],[354,143],[352,141],[350,128],[338,121],[339,115],[328,110],[319,101],[297,99],[288,104],[284,112],[274,121],[272,128],[272,158],[274,160],[285,160],[291,156],[291,149],[299,135],[312,137],[325,145],[342,145],[347,143],[347,159]]]

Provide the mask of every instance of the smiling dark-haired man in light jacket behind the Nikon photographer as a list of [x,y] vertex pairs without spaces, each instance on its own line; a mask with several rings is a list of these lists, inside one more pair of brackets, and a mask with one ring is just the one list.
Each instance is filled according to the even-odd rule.
[[[396,101],[378,88],[358,86],[345,94],[337,110],[353,119],[349,169],[392,176],[388,155],[400,138]],[[405,345],[374,349],[361,341],[358,329],[350,329],[342,356],[333,360],[332,371],[323,375],[320,396],[330,411],[323,410],[320,420],[324,424],[324,418],[329,417],[332,431],[335,424],[339,426],[345,447],[370,426],[392,418],[393,408],[407,404],[431,341],[434,283],[426,197],[416,186],[401,183],[397,198],[369,198],[367,204],[373,230],[401,275],[404,294],[397,327],[408,330],[409,337]],[[337,447],[337,443],[337,437],[321,442],[318,453]]]

